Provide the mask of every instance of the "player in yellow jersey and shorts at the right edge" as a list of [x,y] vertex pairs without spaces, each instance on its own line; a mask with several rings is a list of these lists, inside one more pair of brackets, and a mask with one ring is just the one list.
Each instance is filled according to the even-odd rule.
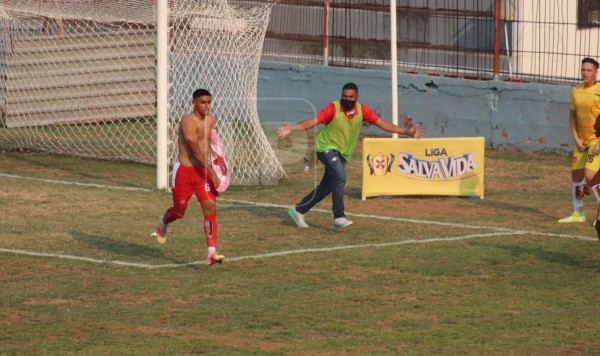
[[600,84],[596,82],[598,62],[593,58],[581,61],[582,83],[573,88],[569,112],[569,127],[573,135],[571,164],[571,198],[573,214],[559,223],[585,222],[583,196],[586,181],[591,181],[600,169],[600,155],[594,152],[598,138],[594,123],[600,114]]

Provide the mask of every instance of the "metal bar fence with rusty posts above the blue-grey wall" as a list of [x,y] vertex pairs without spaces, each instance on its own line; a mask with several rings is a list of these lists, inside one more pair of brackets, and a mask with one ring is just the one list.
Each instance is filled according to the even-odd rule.
[[[597,0],[397,0],[396,17],[405,73],[571,84],[600,48]],[[385,70],[390,29],[390,0],[280,0],[263,60]]]

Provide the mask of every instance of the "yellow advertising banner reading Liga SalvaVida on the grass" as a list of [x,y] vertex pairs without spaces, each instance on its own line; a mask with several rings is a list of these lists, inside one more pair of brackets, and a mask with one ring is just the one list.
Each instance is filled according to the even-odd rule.
[[362,198],[468,195],[483,198],[485,139],[365,138]]

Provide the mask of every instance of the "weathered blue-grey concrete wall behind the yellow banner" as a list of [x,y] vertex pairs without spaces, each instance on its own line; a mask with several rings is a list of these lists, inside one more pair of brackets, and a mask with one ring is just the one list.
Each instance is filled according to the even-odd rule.
[[[263,62],[258,79],[261,122],[279,125],[312,117],[339,99],[347,82],[358,85],[360,102],[392,120],[388,72]],[[422,122],[427,137],[483,136],[486,147],[494,149],[571,151],[570,94],[568,86],[398,76],[398,111]],[[364,132],[389,135],[377,127]]]

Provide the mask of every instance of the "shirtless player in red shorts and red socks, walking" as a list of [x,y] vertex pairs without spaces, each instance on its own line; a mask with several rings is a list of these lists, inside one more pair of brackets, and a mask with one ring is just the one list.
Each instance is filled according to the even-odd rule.
[[183,218],[192,194],[200,202],[204,213],[204,232],[208,246],[207,263],[221,263],[225,256],[216,252],[217,242],[217,196],[219,177],[209,161],[209,141],[211,130],[215,129],[215,119],[210,114],[212,98],[208,90],[198,89],[192,94],[194,110],[179,123],[178,162],[173,168],[173,206],[161,215],[156,227],[156,240],[167,242],[167,226]]

